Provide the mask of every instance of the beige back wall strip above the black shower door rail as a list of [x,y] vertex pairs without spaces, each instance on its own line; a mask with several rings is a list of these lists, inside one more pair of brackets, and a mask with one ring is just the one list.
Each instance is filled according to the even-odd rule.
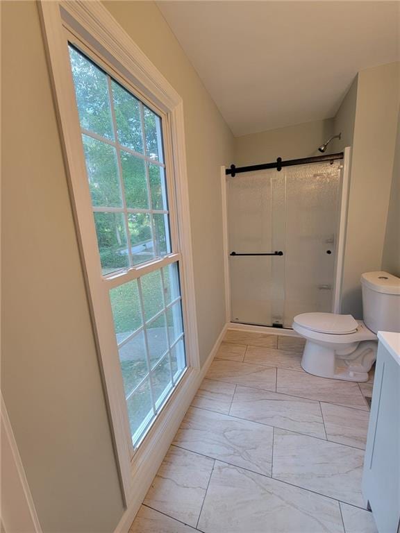
[[[333,119],[296,124],[235,138],[235,165],[269,163],[276,158],[308,158],[320,154],[321,146],[333,135]],[[328,152],[327,152],[328,153]]]

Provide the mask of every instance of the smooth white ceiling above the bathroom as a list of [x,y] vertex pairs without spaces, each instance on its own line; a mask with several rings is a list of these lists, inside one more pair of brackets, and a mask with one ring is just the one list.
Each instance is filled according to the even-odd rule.
[[399,60],[398,1],[158,1],[234,135],[333,117]]

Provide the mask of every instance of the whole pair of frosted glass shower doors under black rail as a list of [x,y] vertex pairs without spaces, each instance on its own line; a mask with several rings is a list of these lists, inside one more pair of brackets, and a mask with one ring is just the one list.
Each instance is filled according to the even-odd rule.
[[231,321],[291,328],[296,314],[332,311],[341,169],[335,160],[226,177]]

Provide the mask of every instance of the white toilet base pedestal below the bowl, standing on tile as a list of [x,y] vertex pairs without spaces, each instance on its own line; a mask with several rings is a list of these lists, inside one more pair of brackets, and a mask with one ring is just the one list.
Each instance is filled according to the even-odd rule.
[[361,341],[338,353],[332,346],[307,340],[301,368],[309,374],[333,380],[368,381],[368,372],[376,360],[376,341]]

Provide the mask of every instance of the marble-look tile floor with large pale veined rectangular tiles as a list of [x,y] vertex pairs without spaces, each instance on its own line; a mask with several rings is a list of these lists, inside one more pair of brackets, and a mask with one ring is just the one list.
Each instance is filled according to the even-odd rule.
[[131,533],[377,533],[360,491],[367,387],[296,337],[228,331]]

